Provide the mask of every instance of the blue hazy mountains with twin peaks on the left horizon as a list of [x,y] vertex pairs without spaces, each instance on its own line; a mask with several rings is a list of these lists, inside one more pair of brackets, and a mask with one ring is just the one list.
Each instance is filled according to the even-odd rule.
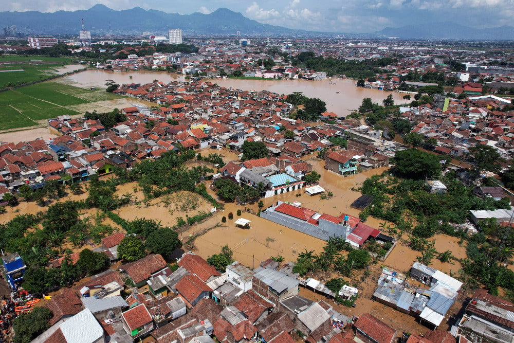
[[84,19],[85,29],[93,33],[108,32],[109,22],[115,33],[141,33],[142,31],[164,33],[172,28],[179,28],[185,33],[195,34],[235,34],[236,31],[241,31],[241,34],[301,32],[280,26],[261,24],[227,8],[218,8],[210,14],[178,14],[144,10],[140,7],[115,11],[97,4],[90,9],[74,12],[0,12],[0,23],[3,27],[16,25],[17,29],[24,33],[78,34],[81,30],[81,18]]

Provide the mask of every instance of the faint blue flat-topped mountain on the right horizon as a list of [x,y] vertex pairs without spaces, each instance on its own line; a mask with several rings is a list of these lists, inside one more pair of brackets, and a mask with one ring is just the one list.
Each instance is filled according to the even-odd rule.
[[383,37],[414,39],[458,39],[458,40],[512,40],[514,27],[502,26],[475,29],[450,22],[403,27],[386,27],[377,34]]

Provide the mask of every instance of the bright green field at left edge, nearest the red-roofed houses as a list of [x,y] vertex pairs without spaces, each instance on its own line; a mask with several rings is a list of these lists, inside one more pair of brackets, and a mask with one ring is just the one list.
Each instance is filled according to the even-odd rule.
[[[11,89],[0,93],[0,130],[44,125],[49,118],[83,113],[80,106],[95,108],[89,105],[122,98],[103,90],[91,91],[58,82]],[[112,106],[98,103],[99,110],[104,107],[108,109]]]

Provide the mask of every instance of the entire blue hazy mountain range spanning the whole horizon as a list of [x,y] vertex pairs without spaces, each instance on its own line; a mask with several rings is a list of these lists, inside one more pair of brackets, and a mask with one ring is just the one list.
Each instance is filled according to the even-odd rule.
[[[141,34],[143,31],[167,33],[168,29],[179,28],[187,34],[235,34],[242,35],[302,35],[305,37],[334,36],[338,32],[313,32],[294,30],[281,26],[259,23],[243,14],[227,8],[218,8],[210,14],[166,13],[158,10],[144,10],[135,7],[116,11],[97,4],[87,10],[47,12],[0,12],[0,25],[15,25],[25,34],[78,34],[81,19],[85,29],[93,34],[113,33]],[[339,33],[341,34],[341,33]],[[386,27],[374,33],[343,33],[350,37],[400,39],[456,39],[456,40],[513,40],[514,27],[476,29],[460,24],[445,22],[432,24]]]

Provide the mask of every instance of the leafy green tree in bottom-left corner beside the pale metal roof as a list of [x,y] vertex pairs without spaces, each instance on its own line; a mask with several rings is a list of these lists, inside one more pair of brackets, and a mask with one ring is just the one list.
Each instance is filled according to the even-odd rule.
[[14,343],[29,343],[50,327],[52,312],[43,306],[33,308],[29,313],[22,313],[13,320]]

